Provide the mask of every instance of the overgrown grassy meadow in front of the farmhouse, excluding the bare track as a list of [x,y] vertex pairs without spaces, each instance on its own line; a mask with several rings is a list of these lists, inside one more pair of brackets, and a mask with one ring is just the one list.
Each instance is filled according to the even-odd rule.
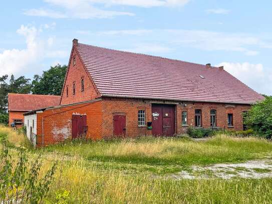
[[[271,158],[272,144],[253,137],[216,135],[206,141],[187,137],[73,141],[40,149],[22,134],[0,127],[14,146],[24,145],[41,175],[58,161],[46,203],[271,203],[272,178],[186,179],[192,166]],[[1,135],[0,134],[0,135]],[[17,150],[11,154],[16,162]],[[201,173],[201,172],[200,172]]]

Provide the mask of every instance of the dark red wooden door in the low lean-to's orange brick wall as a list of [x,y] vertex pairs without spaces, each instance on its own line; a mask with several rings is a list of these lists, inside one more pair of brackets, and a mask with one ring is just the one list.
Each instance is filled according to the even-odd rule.
[[72,115],[72,139],[82,137],[86,133],[86,128],[86,115]]

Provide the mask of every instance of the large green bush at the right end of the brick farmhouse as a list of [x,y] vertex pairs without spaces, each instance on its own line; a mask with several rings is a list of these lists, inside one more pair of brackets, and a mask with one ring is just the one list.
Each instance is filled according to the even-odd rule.
[[245,115],[244,123],[258,135],[271,139],[272,136],[272,97],[254,104]]

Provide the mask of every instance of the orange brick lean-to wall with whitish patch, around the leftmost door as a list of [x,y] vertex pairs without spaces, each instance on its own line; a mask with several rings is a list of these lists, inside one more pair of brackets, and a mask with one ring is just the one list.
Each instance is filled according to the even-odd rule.
[[101,101],[71,105],[37,113],[38,146],[42,145],[44,118],[44,145],[72,138],[73,113],[87,115],[87,138],[101,139]]

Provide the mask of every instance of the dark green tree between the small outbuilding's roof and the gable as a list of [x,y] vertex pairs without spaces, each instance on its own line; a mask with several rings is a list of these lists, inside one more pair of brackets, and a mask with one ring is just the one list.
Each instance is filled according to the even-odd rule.
[[66,70],[66,65],[58,64],[44,71],[42,76],[35,75],[32,81],[33,94],[61,95]]

